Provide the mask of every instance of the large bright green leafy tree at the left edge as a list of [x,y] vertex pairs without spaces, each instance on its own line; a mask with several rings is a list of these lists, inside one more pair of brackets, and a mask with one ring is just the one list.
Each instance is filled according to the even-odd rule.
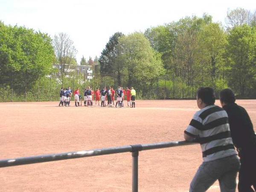
[[24,90],[52,72],[52,40],[42,32],[0,22],[0,84]]

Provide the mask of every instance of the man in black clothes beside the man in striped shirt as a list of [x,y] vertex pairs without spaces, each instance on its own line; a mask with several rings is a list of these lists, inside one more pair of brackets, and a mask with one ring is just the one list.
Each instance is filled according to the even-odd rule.
[[[241,168],[239,171],[239,192],[256,191],[256,135],[247,111],[235,103],[232,90],[220,93],[222,108],[227,112],[231,137],[239,152]],[[252,189],[252,187],[254,190]]]

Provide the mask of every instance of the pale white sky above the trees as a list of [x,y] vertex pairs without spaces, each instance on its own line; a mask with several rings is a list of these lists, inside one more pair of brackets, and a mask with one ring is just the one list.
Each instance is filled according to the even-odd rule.
[[224,23],[228,9],[256,10],[256,0],[0,0],[0,20],[48,33],[67,33],[88,60],[101,55],[110,36],[144,32],[151,26],[204,12]]

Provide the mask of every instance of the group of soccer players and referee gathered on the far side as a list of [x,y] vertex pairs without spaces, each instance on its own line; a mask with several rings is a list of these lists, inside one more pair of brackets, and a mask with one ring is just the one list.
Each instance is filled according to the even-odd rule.
[[[70,99],[73,94],[73,91],[68,87],[68,89],[64,89],[61,87],[60,91],[60,103],[59,106],[70,106]],[[76,88],[74,92],[75,96],[75,106],[82,106],[81,95],[79,88]],[[119,86],[117,90],[114,90],[113,87],[104,87],[102,90],[97,88],[96,91],[91,90],[90,86],[84,90],[84,106],[93,106],[93,100],[95,99],[95,106],[99,106],[99,102],[101,101],[101,107],[124,107],[125,97],[127,100],[127,107],[135,108],[135,96],[136,91],[133,87],[129,89],[126,87],[126,90],[123,87]],[[115,103],[116,97],[116,103]],[[80,103],[81,102],[81,103]]]

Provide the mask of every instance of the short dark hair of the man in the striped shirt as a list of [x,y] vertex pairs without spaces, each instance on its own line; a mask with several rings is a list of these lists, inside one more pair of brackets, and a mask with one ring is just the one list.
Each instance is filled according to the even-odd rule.
[[199,87],[197,96],[198,99],[202,99],[206,105],[214,105],[215,103],[215,94],[211,87]]

